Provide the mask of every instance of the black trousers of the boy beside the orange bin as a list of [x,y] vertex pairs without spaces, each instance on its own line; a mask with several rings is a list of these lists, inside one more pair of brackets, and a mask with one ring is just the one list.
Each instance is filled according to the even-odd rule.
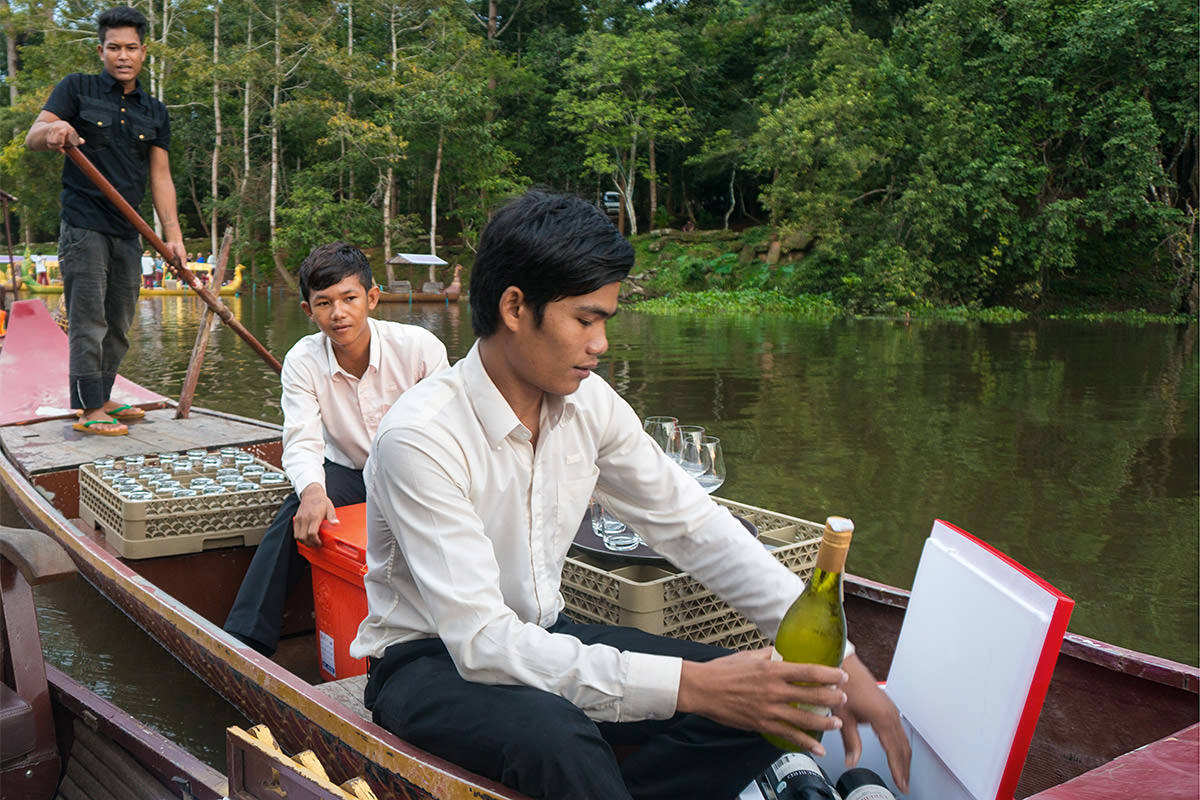
[[[365,503],[362,470],[326,461],[325,494],[335,506]],[[283,603],[304,575],[304,557],[292,535],[292,518],[299,510],[300,498],[293,492],[283,500],[254,551],[226,618],[226,631],[266,656],[274,655],[280,645]]]

